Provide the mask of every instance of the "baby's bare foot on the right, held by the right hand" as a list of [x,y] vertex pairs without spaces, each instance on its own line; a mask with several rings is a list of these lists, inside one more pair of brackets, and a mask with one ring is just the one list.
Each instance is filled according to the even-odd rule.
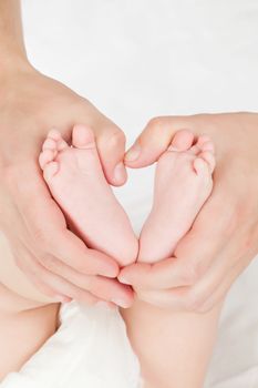
[[214,167],[214,145],[208,136],[199,136],[194,144],[189,131],[176,133],[157,162],[153,208],[140,238],[140,262],[154,263],[173,255],[211,193]]

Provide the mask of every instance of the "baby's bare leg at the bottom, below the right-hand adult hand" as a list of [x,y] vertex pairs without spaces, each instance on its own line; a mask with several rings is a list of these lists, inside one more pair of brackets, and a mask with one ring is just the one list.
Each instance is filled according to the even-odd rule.
[[136,300],[122,310],[144,388],[203,388],[220,309],[178,313]]

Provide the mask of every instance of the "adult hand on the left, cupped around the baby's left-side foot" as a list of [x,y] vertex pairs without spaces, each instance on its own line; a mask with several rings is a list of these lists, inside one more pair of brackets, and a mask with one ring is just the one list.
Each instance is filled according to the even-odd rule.
[[106,180],[122,185],[123,132],[87,100],[28,62],[12,62],[0,86],[0,228],[18,266],[50,297],[87,303],[101,298],[128,306],[133,295],[115,279],[118,265],[68,229],[38,165],[50,129],[69,140],[72,125],[85,123],[95,133]]

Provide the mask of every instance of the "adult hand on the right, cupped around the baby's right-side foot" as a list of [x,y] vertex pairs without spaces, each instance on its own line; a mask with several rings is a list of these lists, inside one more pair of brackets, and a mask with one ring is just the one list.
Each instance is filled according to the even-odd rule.
[[118,278],[147,303],[203,313],[225,297],[258,252],[258,114],[153,119],[128,151],[126,164],[138,169],[154,163],[182,129],[215,142],[213,194],[174,257],[154,265],[136,263]]

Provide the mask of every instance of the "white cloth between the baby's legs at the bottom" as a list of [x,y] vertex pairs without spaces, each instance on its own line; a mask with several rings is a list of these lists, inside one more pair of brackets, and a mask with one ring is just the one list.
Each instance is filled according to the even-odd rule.
[[1,388],[140,388],[140,368],[117,310],[76,303],[59,330]]

